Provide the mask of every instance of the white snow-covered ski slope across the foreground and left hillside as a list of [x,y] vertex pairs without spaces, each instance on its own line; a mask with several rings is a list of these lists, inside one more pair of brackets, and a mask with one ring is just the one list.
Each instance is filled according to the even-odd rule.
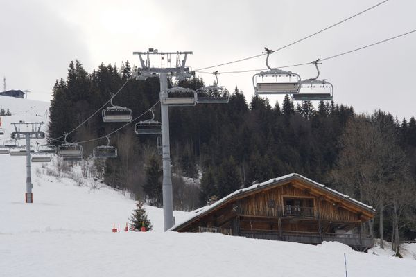
[[[38,113],[25,106],[28,100],[19,101],[19,107],[28,109],[22,108],[19,116],[10,107],[14,116],[7,120],[28,120]],[[358,253],[335,242],[312,246],[214,233],[164,233],[162,210],[149,206],[155,231],[112,233],[113,222],[121,228],[128,222],[135,208],[130,197],[106,186],[94,189],[92,182],[78,186],[71,179],[45,175],[46,168],[33,164],[34,203],[25,204],[25,166],[24,157],[0,155],[1,277],[342,277],[344,253],[350,277],[416,276],[416,247],[399,259],[389,251]],[[175,216],[180,222],[189,213]]]

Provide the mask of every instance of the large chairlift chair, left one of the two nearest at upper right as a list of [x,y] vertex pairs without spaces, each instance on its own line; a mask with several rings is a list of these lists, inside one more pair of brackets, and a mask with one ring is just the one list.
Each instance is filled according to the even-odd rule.
[[299,93],[301,78],[297,73],[273,69],[268,64],[268,58],[273,52],[266,49],[266,66],[269,71],[261,71],[253,75],[253,87],[256,95],[259,94],[295,94]]

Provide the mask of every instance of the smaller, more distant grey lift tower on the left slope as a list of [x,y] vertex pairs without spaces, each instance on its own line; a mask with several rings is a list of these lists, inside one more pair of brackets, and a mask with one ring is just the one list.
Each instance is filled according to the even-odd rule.
[[15,126],[12,132],[12,139],[26,139],[26,203],[33,203],[32,179],[31,179],[31,139],[44,139],[45,133],[40,131],[44,122],[24,122],[10,123]]

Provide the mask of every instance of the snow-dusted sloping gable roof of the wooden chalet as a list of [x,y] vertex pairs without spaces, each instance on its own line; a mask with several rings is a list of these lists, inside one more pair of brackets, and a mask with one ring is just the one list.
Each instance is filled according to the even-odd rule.
[[219,199],[214,204],[199,208],[198,210],[195,211],[195,214],[192,217],[189,217],[187,220],[184,220],[183,222],[175,224],[175,226],[173,226],[171,229],[168,229],[168,231],[175,231],[175,229],[177,229],[178,227],[180,227],[184,224],[187,224],[187,222],[191,222],[193,220],[196,220],[198,217],[201,217],[202,215],[205,215],[209,211],[214,210],[218,206],[221,206],[221,204],[224,204],[225,202],[229,201],[229,199],[234,198],[236,195],[239,195],[241,193],[247,193],[247,192],[254,191],[254,190],[260,190],[262,188],[265,188],[266,186],[272,186],[274,184],[281,183],[283,181],[291,181],[293,179],[300,179],[300,180],[306,181],[306,183],[310,184],[311,186],[316,186],[318,188],[322,188],[322,189],[326,190],[327,192],[331,193],[332,195],[336,195],[338,197],[341,197],[341,198],[345,199],[347,202],[351,202],[352,204],[358,205],[361,208],[364,208],[365,210],[370,211],[371,213],[376,212],[376,210],[372,206],[369,206],[367,204],[359,202],[358,200],[353,199],[353,198],[349,197],[348,195],[345,195],[343,193],[339,193],[338,191],[333,190],[332,188],[328,188],[327,186],[325,186],[323,184],[320,184],[316,181],[313,181],[309,178],[306,178],[306,177],[304,177],[300,174],[291,173],[291,174],[288,174],[288,175],[281,176],[279,178],[273,178],[273,179],[270,179],[268,181],[264,181],[263,183],[254,184],[254,185],[249,186],[247,188],[241,188],[239,190],[236,190],[236,191],[234,191],[234,193],[230,193],[226,197],[223,197],[222,199]]

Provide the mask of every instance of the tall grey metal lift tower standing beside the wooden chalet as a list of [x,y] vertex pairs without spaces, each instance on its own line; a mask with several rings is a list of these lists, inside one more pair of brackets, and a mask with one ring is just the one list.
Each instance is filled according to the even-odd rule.
[[[164,217],[164,231],[170,229],[174,224],[173,218],[173,193],[172,193],[172,179],[171,179],[171,148],[169,144],[169,106],[184,106],[187,103],[180,103],[178,100],[175,103],[164,104],[164,99],[168,98],[168,76],[175,76],[176,80],[184,80],[191,77],[193,74],[186,67],[187,56],[192,55],[191,51],[187,52],[159,52],[157,49],[150,48],[146,52],[133,52],[133,55],[139,55],[141,69],[138,69],[136,80],[146,80],[147,78],[159,77],[160,82],[160,111],[162,120],[162,162],[163,162],[163,217]],[[150,56],[159,55],[162,66],[153,66],[150,64]],[[176,55],[176,64],[172,64],[171,55]],[[164,57],[168,57],[167,65],[165,66]],[[181,57],[183,56],[183,60]],[[196,94],[196,93],[195,93]],[[193,105],[196,104],[196,100]],[[192,105],[192,106],[193,106]]]

